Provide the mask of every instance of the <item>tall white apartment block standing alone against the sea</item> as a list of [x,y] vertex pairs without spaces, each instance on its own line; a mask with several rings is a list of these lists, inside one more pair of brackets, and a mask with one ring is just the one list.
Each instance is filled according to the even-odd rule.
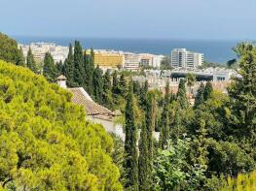
[[203,54],[188,51],[186,48],[174,48],[171,50],[171,66],[173,68],[197,68],[203,62]]

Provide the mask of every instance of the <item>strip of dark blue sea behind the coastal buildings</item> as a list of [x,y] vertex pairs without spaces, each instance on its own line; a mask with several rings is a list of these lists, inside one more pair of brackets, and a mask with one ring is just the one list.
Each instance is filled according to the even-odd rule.
[[[43,38],[43,37],[14,37],[18,43],[30,44],[36,42],[55,43],[60,46],[68,46],[76,38]],[[202,41],[202,40],[154,40],[154,39],[100,39],[77,38],[84,48],[115,49],[131,52],[146,52],[153,54],[170,54],[172,48],[187,48],[192,51],[204,53],[204,60],[218,63],[226,63],[236,58],[232,50],[237,41]]]

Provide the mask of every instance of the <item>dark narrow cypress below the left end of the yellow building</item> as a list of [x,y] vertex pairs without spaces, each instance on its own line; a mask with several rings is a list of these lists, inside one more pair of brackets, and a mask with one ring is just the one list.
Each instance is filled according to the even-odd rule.
[[102,94],[103,94],[103,80],[102,80],[102,71],[97,66],[93,71],[93,97],[95,101],[99,104],[102,103]]

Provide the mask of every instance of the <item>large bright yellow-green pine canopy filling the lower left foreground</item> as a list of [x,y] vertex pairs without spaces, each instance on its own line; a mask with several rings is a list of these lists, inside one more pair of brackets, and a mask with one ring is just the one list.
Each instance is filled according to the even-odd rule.
[[0,190],[122,190],[113,141],[71,94],[0,60]]

